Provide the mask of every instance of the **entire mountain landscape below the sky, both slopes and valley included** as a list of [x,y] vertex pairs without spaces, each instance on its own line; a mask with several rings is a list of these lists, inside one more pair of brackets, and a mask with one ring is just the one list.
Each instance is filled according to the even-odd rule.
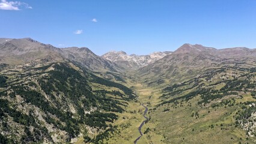
[[255,82],[246,47],[98,56],[0,38],[0,143],[254,143]]

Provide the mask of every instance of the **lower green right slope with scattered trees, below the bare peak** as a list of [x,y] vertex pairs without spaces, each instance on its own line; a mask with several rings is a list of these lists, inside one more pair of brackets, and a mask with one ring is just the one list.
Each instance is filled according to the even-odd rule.
[[254,143],[255,72],[220,67],[169,83],[150,110],[156,133],[165,143]]

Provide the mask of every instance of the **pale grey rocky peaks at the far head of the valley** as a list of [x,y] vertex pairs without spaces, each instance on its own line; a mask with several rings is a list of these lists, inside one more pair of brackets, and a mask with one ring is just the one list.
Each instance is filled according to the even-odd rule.
[[127,55],[126,52],[108,52],[102,55],[102,58],[108,59],[109,61],[115,62],[121,67],[127,69],[136,70],[141,67],[145,67],[148,64],[152,64],[163,56],[169,55],[172,52],[154,52],[150,55]]

